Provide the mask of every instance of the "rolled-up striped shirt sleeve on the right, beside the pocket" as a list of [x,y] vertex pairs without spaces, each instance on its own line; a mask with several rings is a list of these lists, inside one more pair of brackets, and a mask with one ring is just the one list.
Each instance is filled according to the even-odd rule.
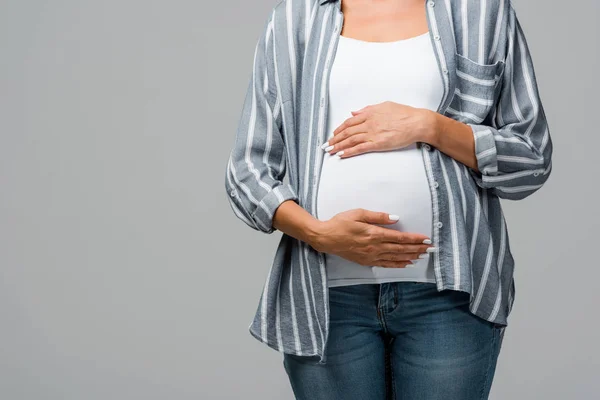
[[505,27],[505,68],[494,126],[468,124],[478,169],[469,172],[480,187],[498,197],[520,200],[548,180],[552,140],[529,47],[510,2]]

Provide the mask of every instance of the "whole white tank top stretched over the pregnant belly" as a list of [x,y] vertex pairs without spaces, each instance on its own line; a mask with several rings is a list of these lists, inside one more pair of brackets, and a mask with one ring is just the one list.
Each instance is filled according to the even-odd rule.
[[[394,42],[340,36],[330,74],[328,138],[352,116],[350,111],[366,105],[389,100],[435,111],[443,95],[429,32]],[[421,150],[415,143],[346,159],[324,155],[317,192],[320,220],[349,209],[365,208],[400,216],[395,224],[378,226],[431,238],[431,201]],[[433,270],[428,267],[429,257],[409,268],[363,266],[329,253],[325,257],[328,287],[435,282]]]

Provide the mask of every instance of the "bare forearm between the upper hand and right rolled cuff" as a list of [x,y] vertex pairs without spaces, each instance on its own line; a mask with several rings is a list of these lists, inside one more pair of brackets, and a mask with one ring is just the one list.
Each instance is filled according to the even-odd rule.
[[430,128],[421,140],[466,166],[477,169],[473,130],[465,123],[431,111]]

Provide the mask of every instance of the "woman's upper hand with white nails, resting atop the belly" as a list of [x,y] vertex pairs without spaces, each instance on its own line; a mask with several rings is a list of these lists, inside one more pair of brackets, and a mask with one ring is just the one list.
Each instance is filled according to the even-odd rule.
[[401,149],[427,142],[435,132],[435,121],[435,112],[429,109],[384,101],[352,111],[352,117],[338,126],[321,148],[341,158]]

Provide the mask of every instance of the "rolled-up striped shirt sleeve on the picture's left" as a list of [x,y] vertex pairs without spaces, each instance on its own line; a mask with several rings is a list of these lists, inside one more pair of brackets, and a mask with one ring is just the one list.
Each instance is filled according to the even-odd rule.
[[234,214],[251,228],[272,233],[273,216],[286,200],[298,202],[283,182],[286,149],[282,136],[271,14],[254,52],[250,83],[225,173],[225,189]]

